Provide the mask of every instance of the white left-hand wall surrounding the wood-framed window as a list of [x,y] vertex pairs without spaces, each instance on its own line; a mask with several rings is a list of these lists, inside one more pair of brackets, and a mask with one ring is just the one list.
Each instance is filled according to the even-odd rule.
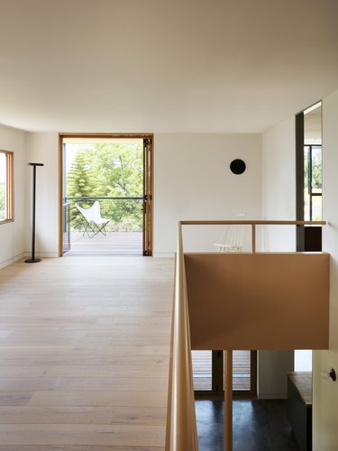
[[0,267],[21,258],[25,250],[25,139],[21,130],[0,125],[0,149],[14,152],[14,222],[0,225]]

